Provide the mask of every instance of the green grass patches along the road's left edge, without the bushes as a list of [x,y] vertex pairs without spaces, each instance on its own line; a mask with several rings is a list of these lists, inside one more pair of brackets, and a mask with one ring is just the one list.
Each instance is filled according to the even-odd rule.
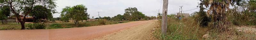
[[[130,22],[130,21],[124,21],[123,23]],[[106,25],[111,24],[119,24],[119,21],[106,21]],[[26,23],[28,25],[30,23]],[[33,24],[33,23],[31,23]],[[97,21],[85,21],[85,22],[79,22],[79,25],[76,26],[74,22],[67,22],[67,23],[45,23],[47,25],[46,29],[58,29],[58,28],[73,28],[73,27],[88,27],[88,26],[101,26]],[[27,28],[27,27],[25,27]],[[20,30],[21,25],[16,24],[16,22],[10,22],[7,24],[0,24],[0,30]]]

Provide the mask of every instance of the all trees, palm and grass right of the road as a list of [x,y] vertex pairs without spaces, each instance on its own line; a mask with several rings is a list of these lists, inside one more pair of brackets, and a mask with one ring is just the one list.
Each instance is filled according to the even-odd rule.
[[[158,24],[154,32],[155,38],[159,40],[256,40],[255,0],[199,1],[201,1],[198,6],[199,12],[189,17],[178,19],[168,15],[167,34],[161,34],[161,25]],[[229,5],[234,8],[229,9]],[[204,11],[206,8],[208,8],[207,12]]]

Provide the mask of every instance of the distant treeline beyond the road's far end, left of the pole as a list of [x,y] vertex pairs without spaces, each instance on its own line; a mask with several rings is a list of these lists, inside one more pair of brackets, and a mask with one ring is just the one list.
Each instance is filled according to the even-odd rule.
[[142,12],[138,11],[137,8],[128,8],[125,9],[125,13],[123,15],[118,14],[114,17],[102,17],[100,19],[106,19],[110,21],[138,21],[138,20],[154,20],[156,19],[155,16],[146,16],[145,14],[142,14]]

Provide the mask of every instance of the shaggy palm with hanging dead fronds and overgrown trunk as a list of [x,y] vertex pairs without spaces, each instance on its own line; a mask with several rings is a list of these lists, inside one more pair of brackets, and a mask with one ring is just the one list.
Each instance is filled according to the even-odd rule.
[[225,31],[230,22],[226,17],[226,10],[229,10],[230,5],[239,4],[240,0],[200,0],[206,8],[209,8],[207,13],[211,15],[213,27],[219,29],[218,31]]

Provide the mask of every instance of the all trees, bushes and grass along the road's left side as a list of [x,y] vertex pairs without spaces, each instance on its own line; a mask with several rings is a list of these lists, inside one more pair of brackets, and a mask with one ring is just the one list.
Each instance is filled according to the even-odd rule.
[[[114,17],[91,19],[89,18],[90,14],[87,13],[87,7],[85,5],[66,6],[61,12],[56,12],[57,3],[55,1],[1,0],[1,30],[73,28],[156,19],[154,16],[146,16],[135,7],[125,9],[123,15],[118,14]],[[60,13],[60,17],[53,18],[52,14],[56,13]],[[8,23],[8,18],[16,18],[15,22],[19,23]],[[28,21],[33,23],[26,23]]]

